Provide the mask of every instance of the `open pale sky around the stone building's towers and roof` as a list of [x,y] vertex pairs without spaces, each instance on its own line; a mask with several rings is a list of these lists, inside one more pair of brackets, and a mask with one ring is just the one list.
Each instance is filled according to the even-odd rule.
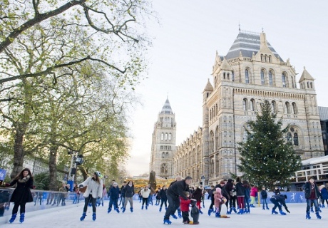
[[[126,169],[130,175],[149,171],[153,125],[166,97],[177,122],[177,145],[202,125],[202,92],[210,78],[215,51],[225,56],[242,30],[267,34],[284,61],[303,67],[316,79],[319,106],[328,106],[328,1],[153,1],[160,25],[149,51],[148,79],[136,88],[143,107],[131,115],[133,144]],[[297,85],[299,88],[299,85]]]

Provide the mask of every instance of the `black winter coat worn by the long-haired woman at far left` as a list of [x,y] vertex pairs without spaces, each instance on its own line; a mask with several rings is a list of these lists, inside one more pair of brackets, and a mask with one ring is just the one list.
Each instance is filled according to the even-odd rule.
[[13,194],[11,195],[10,202],[16,202],[25,204],[26,202],[33,202],[31,188],[33,188],[33,179],[30,176],[26,176],[23,179],[13,180],[9,186],[13,186],[17,183]]

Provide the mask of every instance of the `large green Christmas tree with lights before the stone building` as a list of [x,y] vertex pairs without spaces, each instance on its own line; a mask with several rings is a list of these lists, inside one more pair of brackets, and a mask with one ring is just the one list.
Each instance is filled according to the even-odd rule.
[[301,160],[291,142],[287,142],[289,126],[282,129],[282,120],[272,112],[271,104],[265,100],[256,120],[247,122],[247,140],[240,142],[240,165],[243,179],[257,186],[273,187],[277,184],[287,186],[289,177],[299,170]]

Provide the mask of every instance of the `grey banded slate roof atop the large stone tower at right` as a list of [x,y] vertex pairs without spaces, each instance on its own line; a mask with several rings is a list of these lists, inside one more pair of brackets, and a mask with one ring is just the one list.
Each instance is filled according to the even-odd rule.
[[[254,33],[249,31],[240,31],[238,33],[237,38],[235,38],[235,41],[232,43],[232,46],[230,50],[227,53],[227,56],[225,58],[227,60],[231,58],[237,58],[240,56],[244,57],[250,57],[252,58],[252,53],[255,54],[260,51],[261,47],[267,46],[269,50],[280,59],[280,61],[283,62],[282,58],[279,56],[277,51],[271,46],[269,42],[266,42],[266,45],[261,46],[261,34],[260,33]],[[265,33],[262,34],[262,42],[266,41]]]

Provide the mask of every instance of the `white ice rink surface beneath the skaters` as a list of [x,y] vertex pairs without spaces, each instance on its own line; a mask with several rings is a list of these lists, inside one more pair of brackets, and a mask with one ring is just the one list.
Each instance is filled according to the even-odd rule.
[[[154,201],[155,203],[155,201]],[[322,219],[317,219],[314,213],[311,213],[312,219],[305,219],[306,204],[287,204],[290,214],[283,216],[280,214],[271,214],[272,204],[269,204],[270,210],[263,210],[261,207],[251,209],[250,214],[235,214],[232,212],[229,219],[216,218],[215,214],[208,216],[207,210],[210,201],[205,201],[204,214],[200,214],[200,224],[198,227],[252,227],[252,228],[268,228],[268,227],[324,227],[327,226],[328,208],[322,208]],[[28,205],[26,205],[28,206]],[[12,209],[13,205],[11,205]],[[21,224],[19,217],[14,223],[10,224],[9,216],[1,217],[0,227],[16,228],[44,228],[44,227],[185,227],[191,224],[183,224],[182,219],[173,219],[170,217],[172,224],[163,224],[163,216],[165,209],[159,212],[159,206],[151,206],[148,209],[141,209],[139,201],[133,201],[134,212],[130,209],[125,213],[119,214],[112,210],[107,213],[108,201],[104,207],[97,207],[97,219],[92,220],[92,208],[88,207],[87,217],[81,222],[80,217],[83,211],[83,203],[69,204],[67,206],[59,206],[53,209],[43,211],[29,212],[26,208],[25,221]],[[120,209],[121,210],[121,209]],[[277,210],[278,211],[278,210]],[[176,213],[177,214],[177,213]],[[192,218],[190,218],[192,220]],[[4,222],[6,223],[4,224]]]

